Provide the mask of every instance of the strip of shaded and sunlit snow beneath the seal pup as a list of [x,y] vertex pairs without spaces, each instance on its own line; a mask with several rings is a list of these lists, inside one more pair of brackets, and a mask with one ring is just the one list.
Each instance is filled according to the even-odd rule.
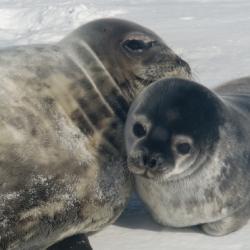
[[199,228],[175,229],[153,222],[133,197],[115,225],[90,237],[94,250],[249,250],[250,223],[224,237],[211,237]]

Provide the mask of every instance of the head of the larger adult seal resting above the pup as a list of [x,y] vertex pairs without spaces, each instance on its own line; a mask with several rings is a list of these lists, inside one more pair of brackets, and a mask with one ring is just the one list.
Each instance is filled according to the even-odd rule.
[[127,100],[133,100],[142,88],[161,78],[191,78],[189,65],[154,32],[136,23],[98,19],[81,26],[62,42],[81,40],[100,59]]

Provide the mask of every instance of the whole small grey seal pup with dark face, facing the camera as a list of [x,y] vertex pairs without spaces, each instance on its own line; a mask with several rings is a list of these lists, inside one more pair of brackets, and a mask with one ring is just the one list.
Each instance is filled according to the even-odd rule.
[[220,236],[250,217],[250,78],[214,91],[181,79],[139,94],[126,123],[136,188],[163,225]]

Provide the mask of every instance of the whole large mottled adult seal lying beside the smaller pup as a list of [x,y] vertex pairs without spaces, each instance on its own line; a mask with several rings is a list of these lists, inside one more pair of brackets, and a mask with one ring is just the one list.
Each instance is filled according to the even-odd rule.
[[190,68],[150,30],[102,19],[0,51],[0,248],[102,229],[131,192],[122,129],[152,81]]

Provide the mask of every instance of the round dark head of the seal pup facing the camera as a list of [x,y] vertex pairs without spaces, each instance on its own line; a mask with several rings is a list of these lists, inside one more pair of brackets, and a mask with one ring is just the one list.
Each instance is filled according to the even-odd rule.
[[224,104],[212,91],[164,79],[133,102],[125,127],[130,170],[158,181],[187,177],[213,155]]

